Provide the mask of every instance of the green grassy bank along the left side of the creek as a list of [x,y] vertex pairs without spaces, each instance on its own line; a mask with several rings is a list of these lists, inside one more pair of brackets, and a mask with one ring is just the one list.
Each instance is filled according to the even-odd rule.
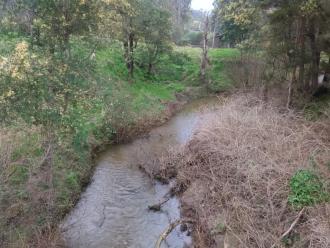
[[[22,40],[15,34],[3,36],[0,54],[7,56]],[[88,57],[83,42],[71,45],[75,56]],[[161,56],[153,75],[136,66],[129,78],[121,45],[102,43],[91,74],[82,82],[89,91],[69,106],[63,119],[73,131],[57,132],[50,144],[47,132],[20,119],[2,126],[0,246],[55,245],[57,224],[89,182],[93,151],[165,121],[175,111],[177,96],[200,94],[199,51],[175,48]]]

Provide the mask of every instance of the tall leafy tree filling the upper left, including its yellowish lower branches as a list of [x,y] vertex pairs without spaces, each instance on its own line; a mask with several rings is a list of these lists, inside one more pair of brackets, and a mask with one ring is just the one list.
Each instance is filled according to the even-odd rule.
[[60,127],[69,105],[83,94],[82,82],[92,69],[88,60],[71,54],[70,39],[96,28],[96,2],[33,0],[16,7],[33,13],[34,32],[2,61],[0,119],[19,115],[52,130],[49,126]]

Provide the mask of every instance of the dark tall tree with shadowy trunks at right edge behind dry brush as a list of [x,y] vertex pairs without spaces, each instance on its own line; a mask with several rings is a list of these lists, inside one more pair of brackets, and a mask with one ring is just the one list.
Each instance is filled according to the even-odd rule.
[[271,1],[264,7],[272,9],[269,51],[286,56],[293,78],[295,68],[299,69],[297,88],[313,93],[318,87],[321,53],[328,50],[329,13],[319,0]]

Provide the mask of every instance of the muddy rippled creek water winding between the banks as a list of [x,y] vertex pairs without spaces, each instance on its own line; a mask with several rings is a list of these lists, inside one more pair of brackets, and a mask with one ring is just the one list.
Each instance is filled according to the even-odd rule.
[[[161,156],[169,147],[185,144],[197,123],[210,112],[216,98],[196,100],[161,127],[129,144],[111,146],[100,155],[90,185],[61,224],[71,248],[153,248],[168,225],[180,218],[180,203],[170,199],[160,212],[158,203],[169,185],[152,181],[138,169],[141,157]],[[141,160],[143,161],[143,159]],[[177,227],[162,248],[191,247],[187,233]]]

